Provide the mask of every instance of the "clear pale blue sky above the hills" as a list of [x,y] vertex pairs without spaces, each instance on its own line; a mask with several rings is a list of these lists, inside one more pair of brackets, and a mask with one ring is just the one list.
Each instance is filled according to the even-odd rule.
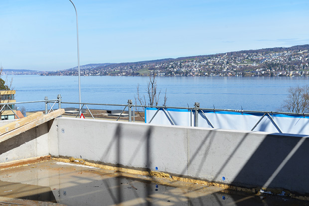
[[[309,0],[73,0],[80,64],[309,44]],[[4,69],[77,66],[69,0],[0,0]]]

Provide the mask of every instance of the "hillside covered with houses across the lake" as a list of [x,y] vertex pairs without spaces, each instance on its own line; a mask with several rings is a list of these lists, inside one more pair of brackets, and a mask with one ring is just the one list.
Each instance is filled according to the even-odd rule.
[[[309,45],[135,63],[91,64],[82,76],[308,76]],[[44,76],[76,76],[77,67]]]

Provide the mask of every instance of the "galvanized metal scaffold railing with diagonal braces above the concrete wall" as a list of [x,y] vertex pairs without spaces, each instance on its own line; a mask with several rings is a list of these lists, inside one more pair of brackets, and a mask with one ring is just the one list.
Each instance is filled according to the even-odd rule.
[[[154,106],[154,105],[134,105],[132,103],[132,100],[128,100],[127,104],[108,104],[108,103],[72,103],[72,102],[62,102],[62,97],[61,95],[57,96],[56,100],[48,100],[47,97],[44,98],[43,101],[30,101],[30,102],[19,102],[19,103],[0,103],[0,112],[3,112],[5,109],[9,108],[9,110],[11,110],[14,115],[16,115],[16,113],[13,111],[13,109],[9,106],[11,104],[24,104],[24,103],[45,103],[45,114],[48,114],[49,112],[54,110],[54,107],[56,104],[58,104],[58,108],[61,108],[61,104],[81,104],[82,106],[80,107],[80,109],[78,110],[78,114],[75,117],[78,117],[78,115],[82,112],[82,109],[84,107],[87,108],[87,110],[89,111],[91,117],[93,119],[95,119],[91,109],[89,109],[88,106],[90,105],[100,105],[100,106],[121,106],[124,107],[121,111],[121,113],[118,115],[116,121],[118,121],[122,114],[125,112],[126,108],[128,107],[128,121],[132,122],[132,111],[133,111],[133,122],[135,122],[135,112],[138,111],[138,107],[142,107],[145,111],[145,108],[156,108],[156,111],[154,113],[154,115],[152,116],[152,118],[150,119],[150,121],[146,122],[146,123],[151,123],[154,119],[154,117],[158,114],[158,112],[161,110],[163,111],[163,113],[165,114],[166,118],[170,121],[170,123],[172,125],[176,125],[174,123],[174,121],[172,120],[172,118],[170,117],[168,111],[166,109],[186,109],[188,111],[190,111],[192,116],[192,113],[194,111],[194,121],[191,118],[190,119],[190,125],[191,126],[195,126],[198,127],[198,114],[202,115],[205,117],[207,123],[210,125],[211,128],[214,128],[215,125],[213,125],[209,118],[207,118],[206,114],[204,111],[212,111],[212,112],[216,112],[216,111],[229,111],[229,112],[241,112],[241,113],[263,113],[263,115],[261,116],[261,118],[256,122],[256,124],[253,126],[253,128],[251,129],[251,131],[253,131],[258,125],[259,123],[262,121],[262,119],[267,116],[270,121],[273,123],[273,125],[277,128],[277,130],[282,133],[281,129],[279,128],[278,124],[274,121],[274,119],[272,118],[272,115],[274,114],[286,114],[286,115],[299,115],[299,116],[309,116],[309,113],[293,113],[293,112],[273,112],[273,111],[255,111],[255,110],[236,110],[236,109],[216,109],[216,108],[200,108],[199,103],[194,103],[194,107],[175,107],[175,106]],[[48,105],[49,105],[49,109],[48,109]],[[140,112],[139,112],[140,113]],[[140,114],[141,115],[141,114]],[[16,115],[17,116],[17,115]],[[17,118],[19,118],[17,116]],[[193,122],[192,122],[193,121]]]

